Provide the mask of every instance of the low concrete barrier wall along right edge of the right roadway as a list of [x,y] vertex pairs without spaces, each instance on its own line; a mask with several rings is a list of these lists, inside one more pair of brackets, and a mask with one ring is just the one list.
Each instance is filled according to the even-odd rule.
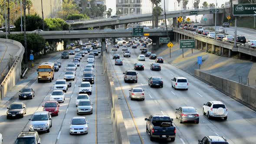
[[221,92],[256,110],[256,88],[195,69],[194,75],[210,83]]

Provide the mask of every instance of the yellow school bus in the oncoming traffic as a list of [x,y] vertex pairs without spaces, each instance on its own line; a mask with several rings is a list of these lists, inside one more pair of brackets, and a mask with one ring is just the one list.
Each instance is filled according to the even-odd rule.
[[52,82],[54,79],[54,63],[53,62],[43,62],[41,65],[38,66],[36,70],[38,77],[38,82],[41,81],[49,81]]

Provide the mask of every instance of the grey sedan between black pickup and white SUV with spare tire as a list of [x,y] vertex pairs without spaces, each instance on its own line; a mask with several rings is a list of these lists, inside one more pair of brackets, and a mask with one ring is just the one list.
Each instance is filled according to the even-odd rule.
[[199,114],[194,107],[180,107],[175,109],[175,116],[179,119],[180,123],[183,122],[195,122],[199,123]]

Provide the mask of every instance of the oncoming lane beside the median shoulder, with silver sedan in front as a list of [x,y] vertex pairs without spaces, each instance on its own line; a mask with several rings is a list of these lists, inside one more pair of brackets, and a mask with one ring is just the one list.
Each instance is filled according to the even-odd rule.
[[[72,98],[70,99],[70,102],[68,105],[68,111],[66,111],[65,119],[62,122],[62,128],[60,129],[59,135],[57,137],[57,139],[58,139],[57,144],[70,144],[70,143],[74,143],[74,144],[81,143],[82,144],[82,143],[85,143],[85,141],[84,141],[85,138],[88,139],[88,141],[86,141],[86,143],[95,143],[95,131],[96,130],[95,130],[95,108],[94,108],[94,106],[93,106],[94,113],[92,115],[77,115],[76,106],[75,106],[76,97],[79,95],[79,85],[82,82],[83,68],[86,66],[86,64],[87,64],[87,59],[84,59],[84,61],[81,63],[81,66],[80,66],[81,69],[77,73],[76,86],[73,89]],[[96,71],[95,68],[94,68],[94,71]],[[95,89],[96,89],[95,85],[96,85],[96,81],[95,81],[95,84],[92,85],[92,95],[89,95],[90,99],[92,101],[92,104],[95,103]],[[89,121],[88,134],[79,135],[79,136],[69,134],[69,125],[70,125],[71,119],[76,116],[85,116],[87,118],[87,120]]]

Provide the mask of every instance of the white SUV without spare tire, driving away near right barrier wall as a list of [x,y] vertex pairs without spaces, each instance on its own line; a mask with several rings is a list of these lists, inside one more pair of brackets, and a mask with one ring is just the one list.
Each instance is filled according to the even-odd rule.
[[184,77],[174,77],[171,80],[171,87],[174,89],[188,89],[187,79]]

